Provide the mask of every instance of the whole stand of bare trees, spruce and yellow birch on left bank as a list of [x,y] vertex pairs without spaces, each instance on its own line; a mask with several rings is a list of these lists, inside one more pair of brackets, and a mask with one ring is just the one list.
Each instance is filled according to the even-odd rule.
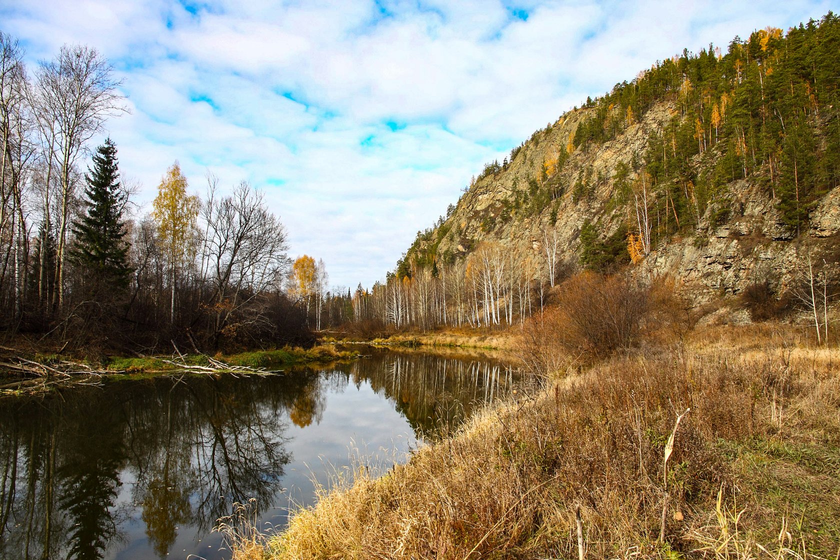
[[260,191],[191,194],[177,162],[153,211],[131,216],[133,186],[105,140],[123,113],[97,50],[65,45],[30,72],[0,33],[0,329],[77,348],[210,351],[308,343],[286,295],[286,229]]

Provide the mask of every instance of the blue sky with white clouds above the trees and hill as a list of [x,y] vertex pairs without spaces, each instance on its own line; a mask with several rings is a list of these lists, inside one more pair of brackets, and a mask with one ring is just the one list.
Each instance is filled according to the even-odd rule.
[[[561,113],[656,60],[831,2],[0,0],[29,64],[87,44],[113,64],[130,113],[107,123],[148,211],[178,160],[250,181],[286,224],[291,256],[332,285],[384,278],[418,229]],[[835,7],[836,9],[836,7]]]

